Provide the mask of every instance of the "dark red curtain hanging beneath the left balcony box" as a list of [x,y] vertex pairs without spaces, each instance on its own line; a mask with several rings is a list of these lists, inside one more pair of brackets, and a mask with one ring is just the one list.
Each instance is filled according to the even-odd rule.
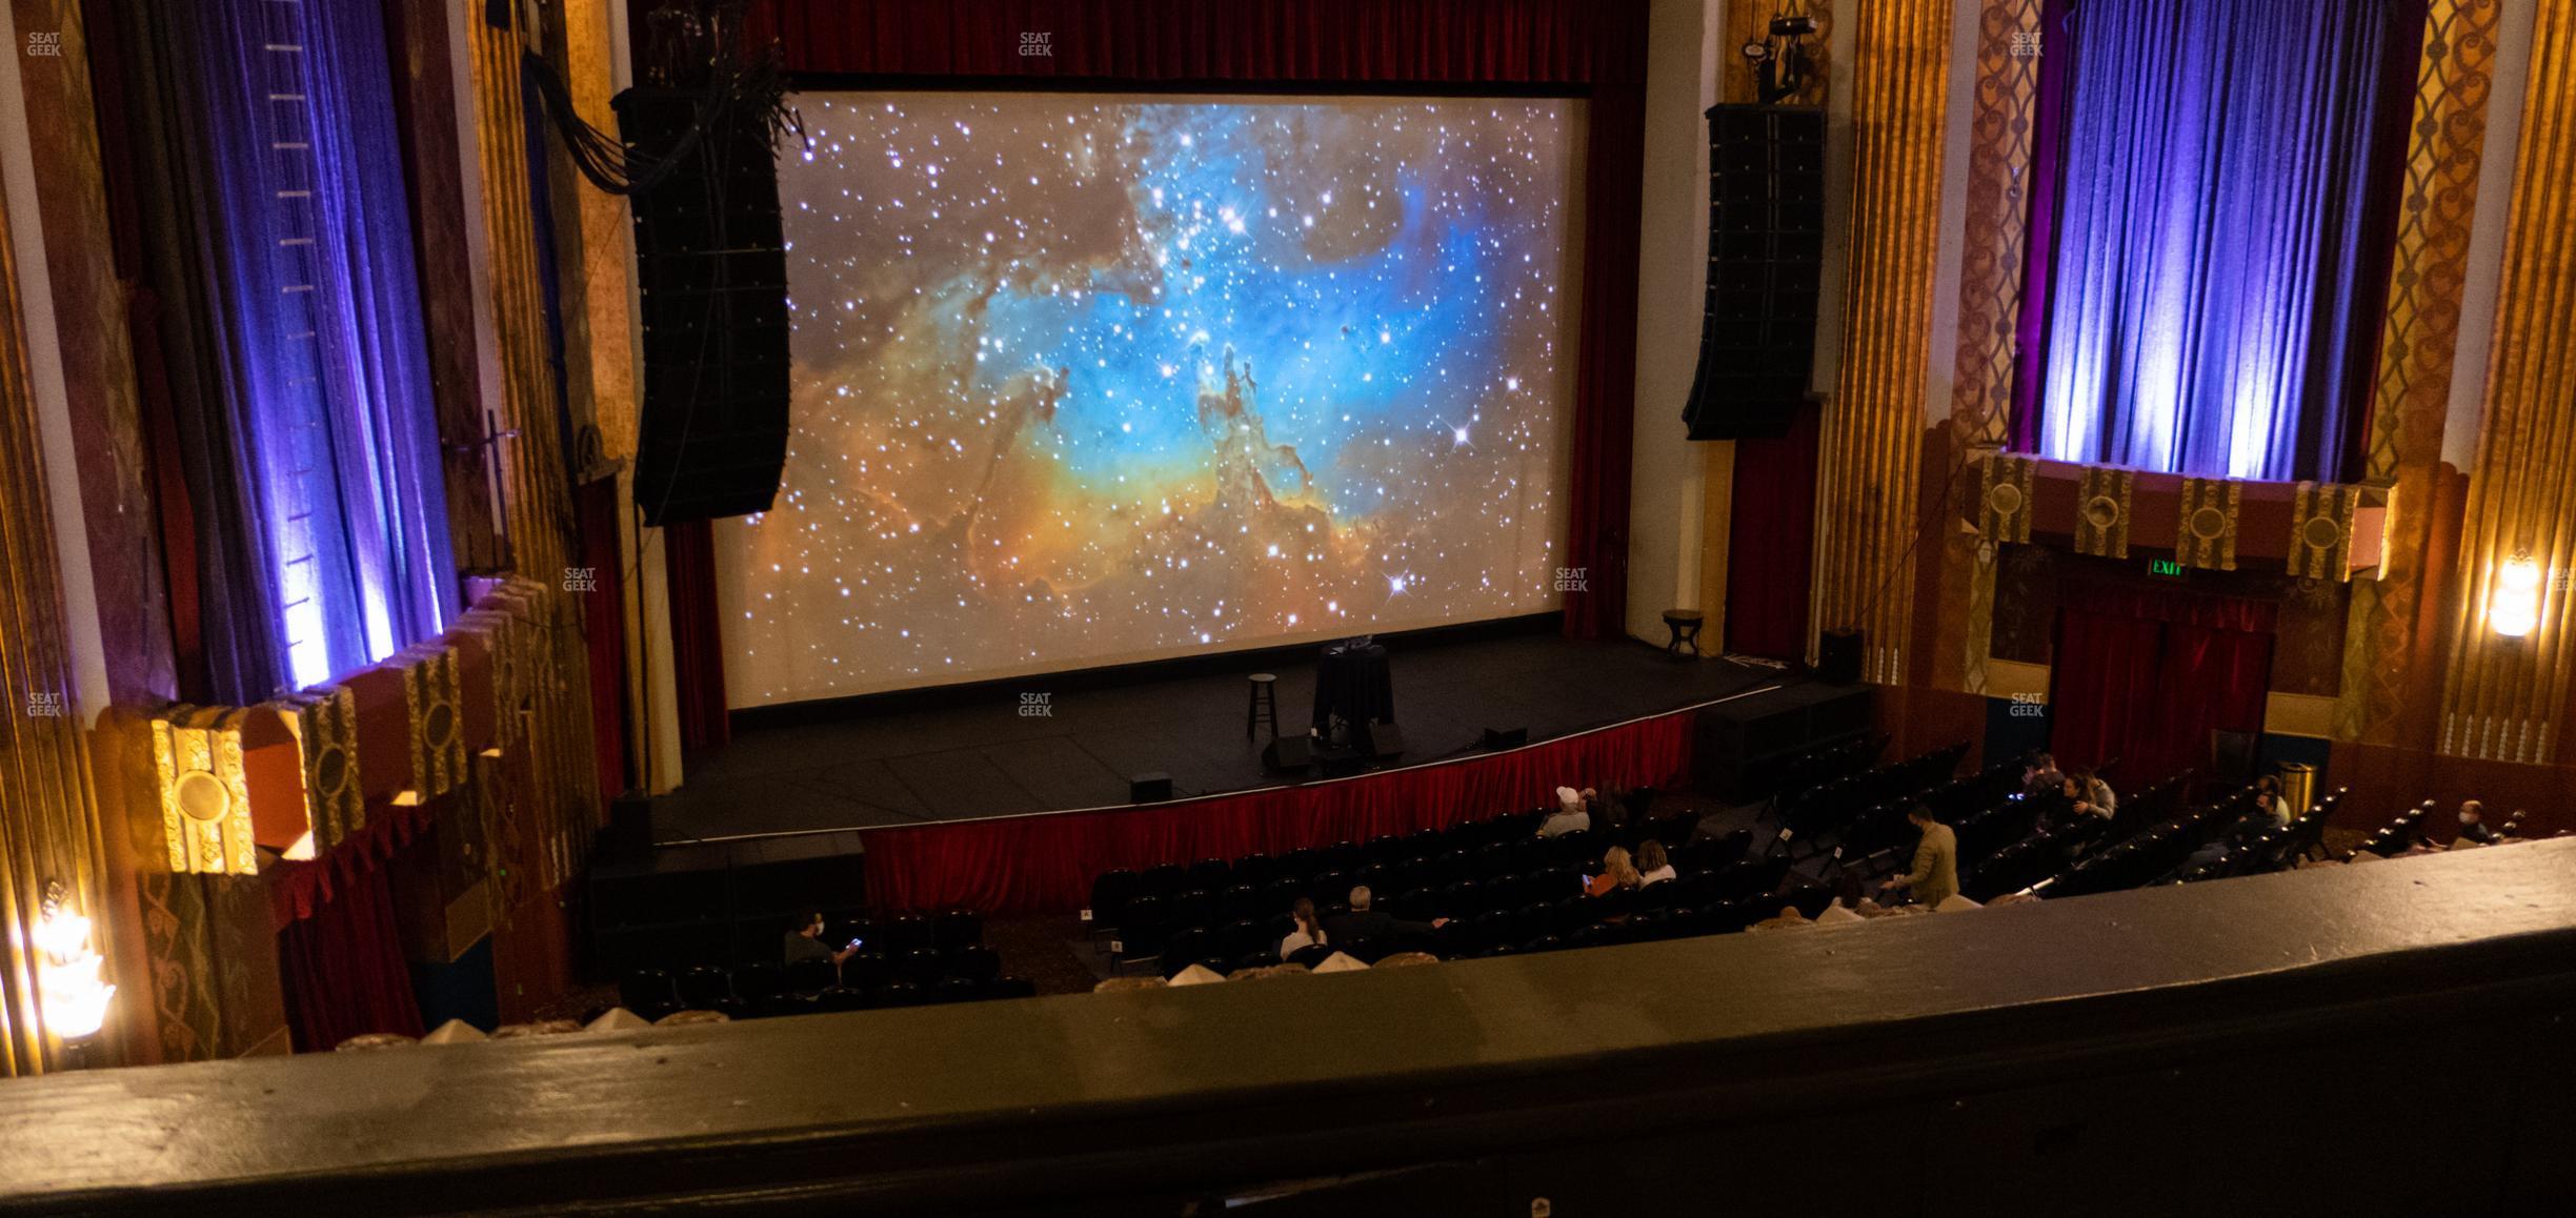
[[330,1051],[361,1033],[420,1035],[386,868],[343,868],[332,896],[278,932],[278,981],[296,1053]]

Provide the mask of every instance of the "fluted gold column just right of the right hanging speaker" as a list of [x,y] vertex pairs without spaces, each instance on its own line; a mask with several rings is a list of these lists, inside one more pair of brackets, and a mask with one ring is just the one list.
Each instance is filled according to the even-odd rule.
[[1904,677],[1922,523],[1924,371],[1940,245],[1950,3],[1880,0],[1857,13],[1852,224],[1842,376],[1824,415],[1816,489],[1816,633],[1860,626],[1862,675]]

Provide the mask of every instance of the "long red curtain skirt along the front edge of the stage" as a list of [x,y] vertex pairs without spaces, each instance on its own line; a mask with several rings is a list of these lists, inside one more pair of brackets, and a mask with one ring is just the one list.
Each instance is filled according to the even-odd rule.
[[1285,852],[1437,829],[1556,803],[1558,785],[1690,783],[1698,711],[1641,718],[1528,749],[1157,809],[1056,811],[866,829],[868,904],[1066,914],[1110,868]]

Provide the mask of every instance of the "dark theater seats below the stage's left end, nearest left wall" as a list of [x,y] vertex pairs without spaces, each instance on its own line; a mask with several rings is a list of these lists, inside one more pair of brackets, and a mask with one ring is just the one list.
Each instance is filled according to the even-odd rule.
[[850,940],[860,950],[840,966],[750,960],[732,968],[634,968],[618,981],[618,999],[647,1020],[683,1009],[752,1020],[1036,994],[1028,979],[1002,976],[1002,955],[984,945],[984,917],[969,909],[884,922],[840,919],[822,937],[832,948]]

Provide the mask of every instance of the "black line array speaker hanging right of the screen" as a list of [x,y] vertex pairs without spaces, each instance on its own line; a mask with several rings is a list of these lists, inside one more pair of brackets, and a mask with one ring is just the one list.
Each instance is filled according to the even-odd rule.
[[1708,304],[1692,440],[1785,435],[1816,366],[1824,111],[1708,108]]

